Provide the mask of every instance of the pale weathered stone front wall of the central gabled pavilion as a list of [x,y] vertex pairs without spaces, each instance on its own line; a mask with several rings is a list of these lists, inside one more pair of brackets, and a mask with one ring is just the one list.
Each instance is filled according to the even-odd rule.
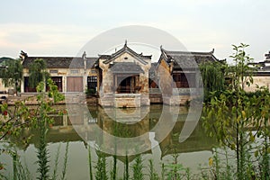
[[[145,59],[148,64],[144,65],[136,57],[133,57],[128,52],[124,52],[119,57],[112,59],[111,63],[103,63],[106,59],[100,59],[99,67],[102,69],[102,85],[98,86],[99,104],[102,106],[116,106],[116,107],[139,107],[141,105],[149,105],[148,97],[148,70],[151,67],[150,59]],[[136,92],[136,98],[121,97],[121,94],[115,94],[114,79],[111,72],[111,66],[115,62],[134,62],[142,68],[144,73],[139,74],[140,86],[138,92]],[[128,75],[129,76],[129,75]],[[139,94],[139,96],[137,95]],[[131,94],[130,94],[131,95]],[[138,97],[138,98],[137,98]]]

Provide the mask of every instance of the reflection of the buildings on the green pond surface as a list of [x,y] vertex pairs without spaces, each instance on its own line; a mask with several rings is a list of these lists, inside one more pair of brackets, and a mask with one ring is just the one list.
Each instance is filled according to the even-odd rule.
[[[95,148],[104,150],[108,155],[117,154],[120,158],[125,154],[134,155],[138,151],[151,153],[151,149],[156,146],[160,148],[162,158],[174,153],[211,150],[216,144],[205,135],[200,122],[187,139],[179,142],[179,135],[187,116],[185,107],[178,108],[179,112],[172,106],[162,105],[134,109],[85,107],[78,104],[68,107],[69,117],[67,114],[56,115],[54,126],[48,133],[48,142],[85,141],[94,144]],[[22,137],[33,134],[31,143],[36,147],[39,136],[35,133],[37,132],[24,130]],[[22,140],[13,140],[17,147],[27,148],[20,144]],[[135,144],[131,146],[130,143]],[[134,156],[130,156],[131,159],[132,157]]]

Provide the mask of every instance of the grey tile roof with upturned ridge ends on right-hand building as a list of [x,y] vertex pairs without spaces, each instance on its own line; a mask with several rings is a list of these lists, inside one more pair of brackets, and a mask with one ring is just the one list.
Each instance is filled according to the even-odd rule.
[[211,52],[189,52],[161,49],[161,51],[167,62],[174,62],[174,68],[193,68],[205,61],[219,61],[213,56],[213,50]]

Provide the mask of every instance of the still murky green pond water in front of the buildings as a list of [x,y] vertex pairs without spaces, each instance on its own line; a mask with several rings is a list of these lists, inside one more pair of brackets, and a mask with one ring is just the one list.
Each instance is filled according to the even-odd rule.
[[[178,163],[190,167],[193,173],[199,173],[199,167],[207,166],[208,159],[212,156],[212,148],[217,145],[214,139],[206,136],[201,121],[187,122],[194,125],[194,128],[188,137],[180,139],[188,114],[185,107],[174,109],[169,106],[151,105],[136,109],[104,109],[90,105],[86,106],[85,110],[85,106],[59,105],[57,108],[67,109],[69,116],[67,114],[54,116],[54,125],[47,134],[49,166],[54,167],[54,159],[60,146],[58,169],[61,169],[68,141],[67,179],[89,179],[86,144],[92,145],[91,154],[94,165],[97,162],[94,147],[106,153],[108,171],[112,169],[113,164],[110,152],[116,152],[119,177],[123,175],[124,152],[129,154],[130,166],[134,163],[137,152],[141,154],[145,167],[148,167],[148,159],[152,159],[155,170],[159,174],[162,163],[172,163],[173,155],[177,153]],[[160,121],[163,123],[159,123]],[[28,166],[35,179],[39,135],[37,131],[23,131],[22,137],[30,136],[31,141],[27,146],[22,143],[22,139],[11,139],[11,141],[15,144],[23,165]],[[114,140],[115,137],[117,140]],[[120,141],[121,139],[129,140],[123,145],[119,138]],[[4,174],[12,174],[12,158],[2,155],[1,161],[5,163]],[[148,174],[147,168],[144,168],[144,171]]]

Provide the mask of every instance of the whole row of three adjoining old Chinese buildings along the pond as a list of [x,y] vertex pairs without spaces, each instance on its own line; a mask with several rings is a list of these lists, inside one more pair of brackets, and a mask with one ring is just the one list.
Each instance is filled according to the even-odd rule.
[[35,92],[29,85],[29,67],[35,59],[47,64],[58,91],[85,93],[94,90],[102,106],[140,107],[150,103],[184,104],[202,93],[198,64],[219,61],[210,52],[172,51],[161,48],[158,62],[152,56],[123,47],[98,58],[30,57],[22,52],[23,94]]

